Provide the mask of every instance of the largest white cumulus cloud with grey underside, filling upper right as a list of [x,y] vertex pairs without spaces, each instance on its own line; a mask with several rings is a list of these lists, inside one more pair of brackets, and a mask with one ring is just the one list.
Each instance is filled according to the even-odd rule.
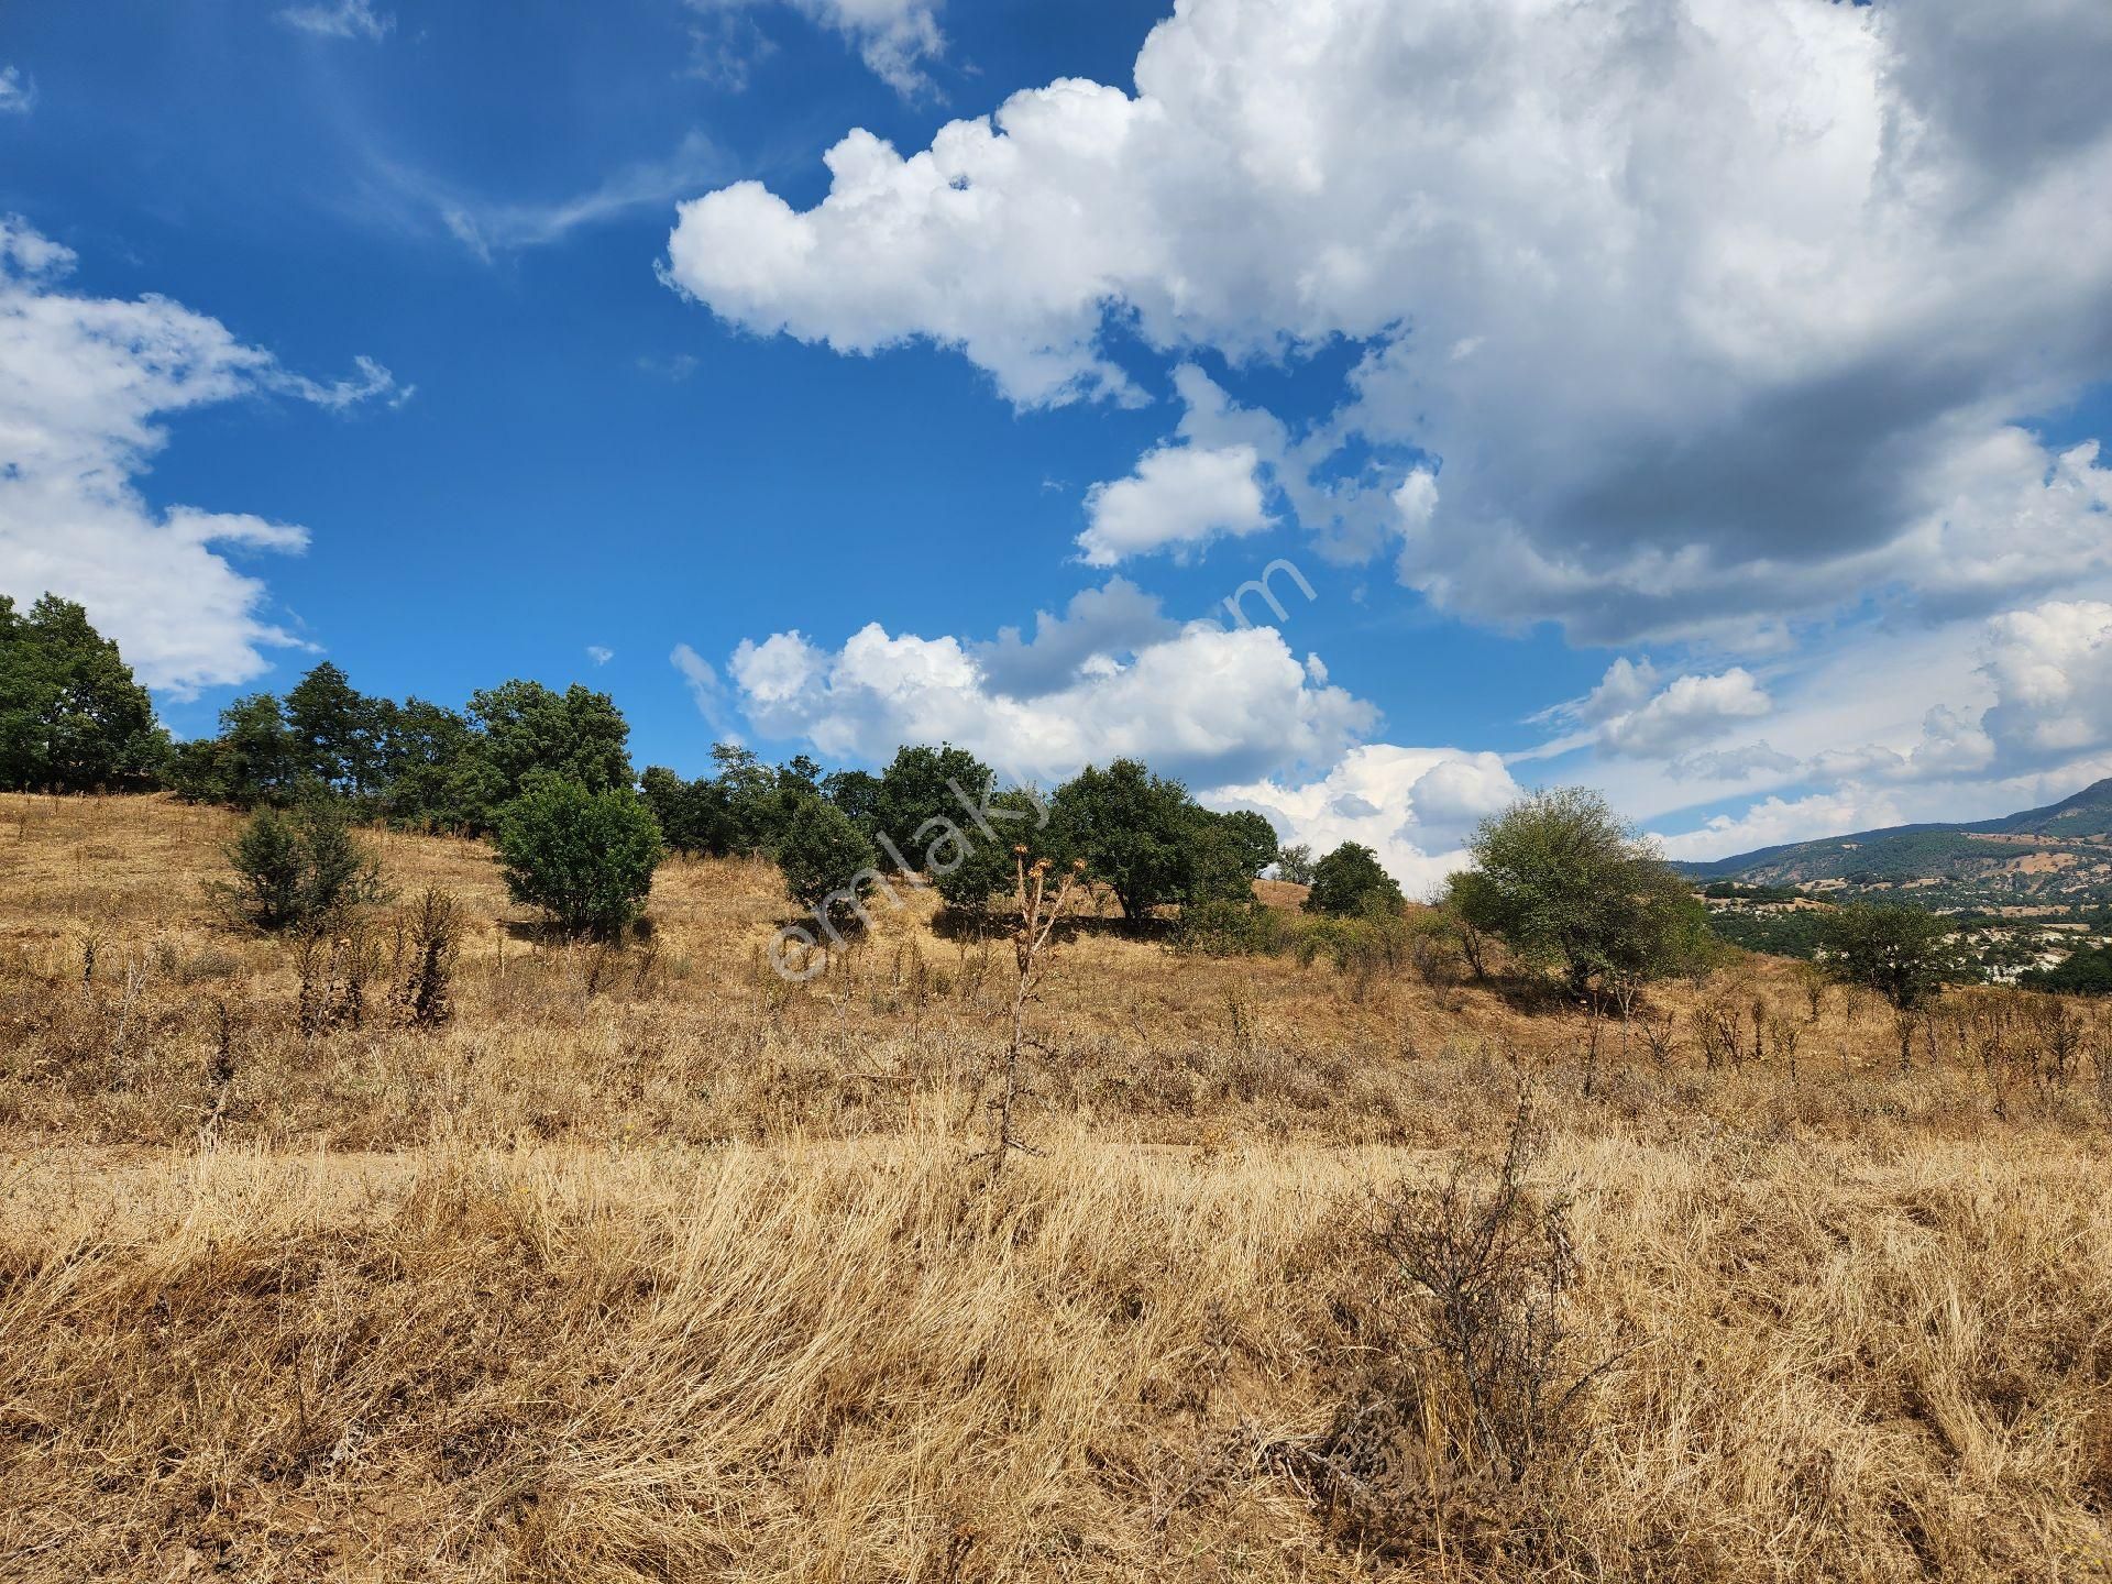
[[1371,553],[1320,463],[1428,473],[1398,574],[1474,619],[1985,612],[2106,566],[2095,452],[2017,420],[2112,370],[2108,78],[2099,0],[1191,0],[1134,93],[853,129],[805,209],[680,205],[667,275],[760,334],[957,348],[1029,408],[1140,399],[1117,342],[1347,338],[1282,488]]

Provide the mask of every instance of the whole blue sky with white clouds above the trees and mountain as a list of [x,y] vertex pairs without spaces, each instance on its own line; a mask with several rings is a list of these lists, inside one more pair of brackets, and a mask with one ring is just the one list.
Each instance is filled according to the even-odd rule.
[[2091,0],[13,6],[0,591],[182,733],[585,680],[1413,881],[1535,781],[1994,813],[2112,773],[2106,70]]

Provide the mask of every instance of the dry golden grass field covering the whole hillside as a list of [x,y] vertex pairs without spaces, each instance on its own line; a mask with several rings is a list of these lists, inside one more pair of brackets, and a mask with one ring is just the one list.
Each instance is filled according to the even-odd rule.
[[[1010,950],[923,900],[788,986],[769,868],[617,953],[376,834],[467,917],[414,1029],[220,919],[232,824],[0,798],[4,1580],[2112,1571],[2101,1010],[1958,995],[1901,1073],[1747,963],[1592,1056],[1445,963],[1088,923],[993,1178]],[[1398,1242],[1472,1242],[1415,1189],[1521,1094],[1462,1356]]]

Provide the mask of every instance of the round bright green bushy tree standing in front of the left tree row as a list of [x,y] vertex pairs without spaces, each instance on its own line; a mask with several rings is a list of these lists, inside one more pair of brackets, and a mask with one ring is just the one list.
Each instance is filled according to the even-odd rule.
[[530,775],[498,811],[507,893],[543,908],[570,936],[621,936],[665,855],[653,811],[623,786],[589,790],[562,775]]

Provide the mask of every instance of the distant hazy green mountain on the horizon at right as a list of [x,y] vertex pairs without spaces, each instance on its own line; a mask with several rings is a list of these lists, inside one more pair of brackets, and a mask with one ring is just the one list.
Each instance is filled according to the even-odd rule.
[[1696,881],[1913,891],[1935,908],[2049,917],[2104,908],[2112,904],[2112,777],[2000,819],[1859,830],[1679,870]]

